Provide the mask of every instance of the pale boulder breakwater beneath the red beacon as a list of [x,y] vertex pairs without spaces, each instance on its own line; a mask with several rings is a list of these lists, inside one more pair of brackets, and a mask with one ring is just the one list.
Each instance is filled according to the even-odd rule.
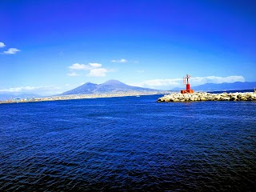
[[256,93],[194,93],[194,94],[166,94],[158,98],[158,102],[198,102],[198,101],[256,101]]

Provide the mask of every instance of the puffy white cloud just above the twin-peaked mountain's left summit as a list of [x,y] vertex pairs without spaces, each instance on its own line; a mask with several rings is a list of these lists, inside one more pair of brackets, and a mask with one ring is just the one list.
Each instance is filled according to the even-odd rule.
[[73,70],[89,70],[89,74],[87,76],[90,77],[105,77],[106,73],[114,71],[108,70],[102,67],[102,64],[96,62],[90,62],[88,65],[74,63],[72,66],[69,66],[71,72],[68,74],[69,76],[78,76]]

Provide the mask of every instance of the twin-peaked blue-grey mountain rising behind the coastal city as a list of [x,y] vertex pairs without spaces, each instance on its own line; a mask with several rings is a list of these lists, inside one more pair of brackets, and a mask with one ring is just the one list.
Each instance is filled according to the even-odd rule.
[[116,92],[128,92],[128,91],[152,91],[152,89],[142,88],[138,86],[128,86],[118,80],[109,80],[102,84],[94,84],[86,82],[82,86],[74,88],[74,90],[68,90],[62,95],[66,94],[105,94],[105,93],[116,93]]

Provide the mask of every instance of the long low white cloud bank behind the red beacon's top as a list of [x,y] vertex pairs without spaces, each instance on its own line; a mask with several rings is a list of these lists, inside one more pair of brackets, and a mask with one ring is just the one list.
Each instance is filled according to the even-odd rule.
[[[191,86],[199,86],[205,83],[222,83],[222,82],[245,82],[245,78],[242,76],[229,76],[229,77],[196,77],[190,78]],[[174,87],[183,87],[183,78],[166,78],[166,79],[152,79],[144,82],[130,83],[130,86],[142,86],[154,89],[166,89],[170,90]]]

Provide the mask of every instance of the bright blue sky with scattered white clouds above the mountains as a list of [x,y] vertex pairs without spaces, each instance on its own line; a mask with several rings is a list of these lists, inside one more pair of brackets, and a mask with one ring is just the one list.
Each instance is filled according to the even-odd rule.
[[0,1],[0,94],[255,82],[256,2]]

